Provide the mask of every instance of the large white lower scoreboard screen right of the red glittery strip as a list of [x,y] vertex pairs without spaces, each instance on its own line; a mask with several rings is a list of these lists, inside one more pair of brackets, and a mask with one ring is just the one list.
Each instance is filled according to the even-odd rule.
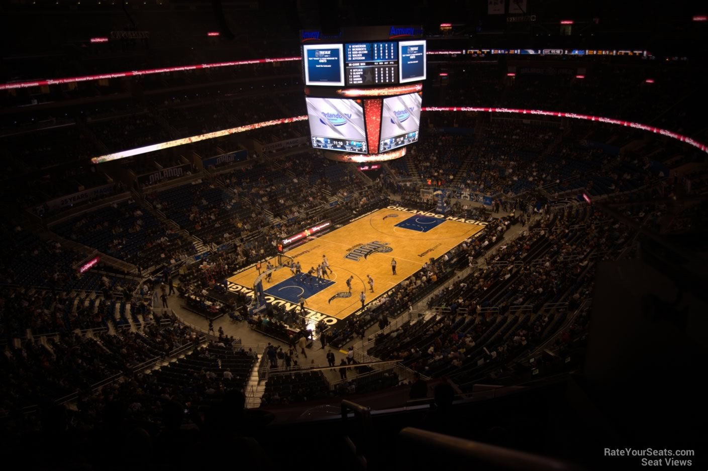
[[379,152],[391,151],[418,141],[422,105],[422,93],[384,98]]

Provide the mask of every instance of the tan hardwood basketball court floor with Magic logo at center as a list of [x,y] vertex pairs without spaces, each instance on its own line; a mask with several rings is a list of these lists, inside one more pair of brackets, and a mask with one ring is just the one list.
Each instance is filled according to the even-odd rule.
[[[396,209],[379,209],[324,236],[311,238],[309,242],[287,252],[287,255],[300,262],[303,272],[307,272],[310,267],[316,268],[322,262],[322,255],[327,256],[333,270],[330,277],[334,284],[307,298],[306,307],[333,318],[344,319],[361,308],[361,291],[366,293],[366,303],[370,303],[421,269],[430,257],[442,256],[483,227],[470,221],[452,221]],[[392,274],[392,258],[397,262],[396,275]],[[374,279],[373,293],[367,284],[367,274]],[[256,268],[252,267],[229,278],[229,281],[252,289],[257,276]],[[354,277],[351,296],[331,299],[337,293],[348,292],[346,280],[350,276]],[[292,273],[287,268],[273,272],[270,283],[264,280],[263,290],[268,291],[270,287],[286,280],[292,281],[288,289],[302,290],[297,287],[298,284],[302,286],[302,281],[292,279]],[[275,290],[270,291],[270,294],[277,296],[273,293]],[[295,292],[297,296],[301,291]],[[283,299],[292,303],[292,294]]]

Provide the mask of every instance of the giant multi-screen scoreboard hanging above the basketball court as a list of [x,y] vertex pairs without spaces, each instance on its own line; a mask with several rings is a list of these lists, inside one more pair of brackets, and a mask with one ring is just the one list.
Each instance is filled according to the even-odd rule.
[[418,141],[426,40],[416,26],[302,30],[312,147],[335,161],[399,158]]

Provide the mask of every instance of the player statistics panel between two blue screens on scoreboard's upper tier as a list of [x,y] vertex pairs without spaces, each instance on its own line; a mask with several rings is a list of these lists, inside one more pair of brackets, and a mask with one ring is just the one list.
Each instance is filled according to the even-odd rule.
[[344,45],[347,86],[398,83],[398,45],[395,41]]

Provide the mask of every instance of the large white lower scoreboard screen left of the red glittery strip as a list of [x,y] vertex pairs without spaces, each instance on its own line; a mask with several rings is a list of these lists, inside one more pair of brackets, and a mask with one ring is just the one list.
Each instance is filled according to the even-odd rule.
[[359,100],[310,97],[305,100],[314,148],[367,153],[364,109]]

